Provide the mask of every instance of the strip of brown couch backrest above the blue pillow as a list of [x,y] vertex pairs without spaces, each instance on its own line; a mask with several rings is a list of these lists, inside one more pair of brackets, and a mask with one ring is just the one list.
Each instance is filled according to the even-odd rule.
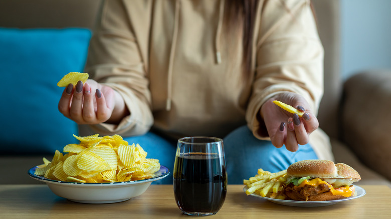
[[92,29],[100,0],[2,0],[0,26]]

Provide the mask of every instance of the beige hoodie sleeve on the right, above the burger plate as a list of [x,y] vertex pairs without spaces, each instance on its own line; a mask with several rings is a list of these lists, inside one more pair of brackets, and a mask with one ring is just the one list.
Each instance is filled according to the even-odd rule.
[[255,78],[246,120],[255,137],[268,139],[262,104],[281,92],[302,95],[315,113],[323,95],[323,47],[309,0],[260,3],[255,36]]

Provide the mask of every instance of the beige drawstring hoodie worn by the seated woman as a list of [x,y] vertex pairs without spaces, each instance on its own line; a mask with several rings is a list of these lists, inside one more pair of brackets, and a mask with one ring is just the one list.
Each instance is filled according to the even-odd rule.
[[[323,47],[309,0],[260,0],[254,74],[246,80],[239,73],[242,41],[225,34],[224,3],[105,1],[86,70],[117,90],[131,114],[119,125],[92,125],[92,132],[133,136],[153,128],[174,138],[224,137],[247,124],[268,139],[257,134],[256,115],[268,98],[286,91],[303,95],[317,112]],[[321,130],[310,141],[319,158],[333,160]]]

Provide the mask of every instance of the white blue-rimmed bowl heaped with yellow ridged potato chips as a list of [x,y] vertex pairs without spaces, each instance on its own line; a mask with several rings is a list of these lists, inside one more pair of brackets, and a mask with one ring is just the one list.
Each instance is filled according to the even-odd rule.
[[169,174],[139,144],[129,145],[119,135],[75,137],[80,144],[68,144],[65,154],[56,150],[51,161],[43,158],[44,164],[28,170],[60,197],[79,203],[126,201]]

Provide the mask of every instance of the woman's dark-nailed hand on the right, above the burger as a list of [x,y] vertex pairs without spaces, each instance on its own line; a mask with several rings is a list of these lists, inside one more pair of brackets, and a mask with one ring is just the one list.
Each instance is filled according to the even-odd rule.
[[[300,118],[273,103],[274,100],[291,105],[304,114]],[[261,107],[261,117],[265,122],[272,144],[280,148],[285,144],[289,151],[297,151],[299,145],[309,142],[309,135],[319,127],[318,119],[308,102],[295,93],[281,93],[267,100]]]

